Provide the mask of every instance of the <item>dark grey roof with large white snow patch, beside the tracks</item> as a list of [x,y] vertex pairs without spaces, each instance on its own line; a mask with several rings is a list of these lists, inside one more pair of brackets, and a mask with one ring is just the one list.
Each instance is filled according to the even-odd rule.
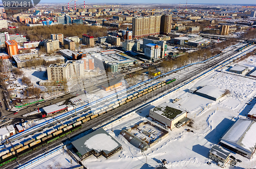
[[92,150],[109,154],[121,147],[121,144],[102,128],[73,141],[72,144],[81,155]]

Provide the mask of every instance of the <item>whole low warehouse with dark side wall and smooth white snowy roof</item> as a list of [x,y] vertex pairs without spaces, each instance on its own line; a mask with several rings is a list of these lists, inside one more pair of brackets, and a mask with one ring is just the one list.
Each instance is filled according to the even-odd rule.
[[215,86],[206,85],[206,86],[203,86],[202,88],[200,88],[199,90],[196,90],[195,93],[200,96],[203,96],[204,98],[218,101],[225,93],[225,90],[220,89]]

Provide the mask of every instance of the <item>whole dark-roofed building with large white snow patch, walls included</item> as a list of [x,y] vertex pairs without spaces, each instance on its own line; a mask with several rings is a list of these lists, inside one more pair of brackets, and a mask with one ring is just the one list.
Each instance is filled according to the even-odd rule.
[[81,159],[91,155],[97,158],[102,155],[108,159],[122,149],[122,145],[102,128],[71,143],[73,151]]

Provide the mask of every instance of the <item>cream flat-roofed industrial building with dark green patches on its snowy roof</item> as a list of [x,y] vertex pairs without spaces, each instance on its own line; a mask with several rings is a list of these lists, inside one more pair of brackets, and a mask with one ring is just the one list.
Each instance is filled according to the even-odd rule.
[[186,117],[187,112],[174,108],[172,103],[162,103],[159,106],[150,109],[150,117],[160,124],[165,125],[171,130],[176,127],[178,123],[185,125],[189,119]]

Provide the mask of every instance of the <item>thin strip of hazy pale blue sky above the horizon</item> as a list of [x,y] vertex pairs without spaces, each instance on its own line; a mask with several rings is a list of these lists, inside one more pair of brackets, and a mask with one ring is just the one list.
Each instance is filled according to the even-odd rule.
[[[68,0],[41,0],[41,3],[66,3],[68,4]],[[77,3],[83,3],[83,0],[78,1]],[[163,3],[163,4],[185,4],[186,1],[185,0],[180,0],[180,1],[169,1],[169,0],[162,0],[162,1],[155,1],[155,0],[89,0],[86,1],[86,3]],[[187,1],[187,4],[256,4],[255,0],[245,0],[245,1],[241,1],[241,0],[215,0],[215,1],[203,1],[203,0],[193,0]],[[70,3],[70,4],[74,4],[74,2]]]

